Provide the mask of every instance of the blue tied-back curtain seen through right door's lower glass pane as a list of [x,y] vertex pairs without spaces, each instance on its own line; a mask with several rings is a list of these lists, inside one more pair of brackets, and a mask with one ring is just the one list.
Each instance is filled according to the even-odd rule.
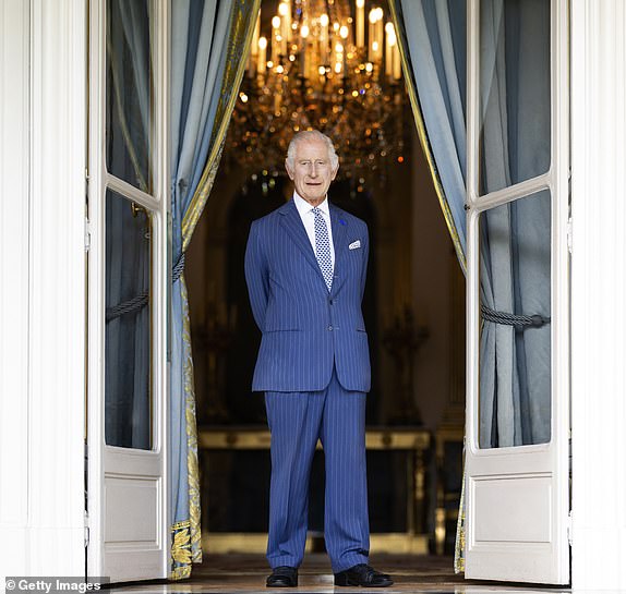
[[550,210],[545,190],[481,215],[481,448],[550,441]]

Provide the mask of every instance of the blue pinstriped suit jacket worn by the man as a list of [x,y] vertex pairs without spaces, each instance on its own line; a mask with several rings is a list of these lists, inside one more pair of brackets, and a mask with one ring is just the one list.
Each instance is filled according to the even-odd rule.
[[329,210],[335,246],[330,292],[293,199],[252,223],[245,279],[254,319],[263,332],[254,391],[323,390],[334,365],[344,388],[370,390],[361,312],[368,226],[332,204]]

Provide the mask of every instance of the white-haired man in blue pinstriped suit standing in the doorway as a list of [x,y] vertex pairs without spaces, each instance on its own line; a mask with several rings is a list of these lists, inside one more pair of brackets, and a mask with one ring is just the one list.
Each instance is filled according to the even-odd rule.
[[245,252],[250,302],[263,332],[252,389],[265,392],[272,433],[267,585],[298,585],[320,439],[335,584],[387,586],[390,578],[368,565],[370,354],[361,313],[368,227],[328,203],[339,168],[330,138],[297,134],[285,165],[293,198],[252,223]]

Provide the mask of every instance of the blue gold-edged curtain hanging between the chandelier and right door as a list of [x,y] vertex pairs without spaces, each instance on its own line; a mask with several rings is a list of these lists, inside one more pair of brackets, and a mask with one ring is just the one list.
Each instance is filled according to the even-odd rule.
[[390,0],[407,92],[442,210],[465,270],[466,9],[457,0]]

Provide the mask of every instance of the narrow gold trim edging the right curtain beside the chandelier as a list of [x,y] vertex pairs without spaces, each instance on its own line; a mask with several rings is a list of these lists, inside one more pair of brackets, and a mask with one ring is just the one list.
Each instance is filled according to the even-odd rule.
[[[409,58],[408,58],[408,48],[405,47],[405,39],[404,35],[400,35],[400,31],[405,31],[404,28],[400,29],[399,27],[399,20],[398,20],[398,11],[396,8],[396,3],[400,0],[389,0],[389,9],[392,11],[392,20],[394,21],[394,27],[396,27],[397,35],[397,44],[400,50],[400,60],[402,62],[402,72],[405,74],[405,82],[407,85],[407,93],[409,95],[409,100],[411,102],[411,109],[413,111],[413,118],[416,120],[416,126],[418,129],[418,136],[420,138],[420,144],[422,145],[422,150],[426,156],[426,161],[429,163],[429,169],[431,170],[431,177],[433,178],[433,184],[435,186],[435,192],[437,194],[437,198],[440,201],[440,206],[442,207],[442,211],[444,214],[444,218],[446,220],[446,225],[448,227],[448,231],[450,233],[450,238],[453,240],[455,251],[464,270],[464,274],[467,272],[466,266],[466,256],[464,253],[464,248],[459,239],[459,234],[455,225],[455,220],[453,218],[453,214],[450,211],[450,207],[448,205],[448,201],[446,198],[446,193],[444,191],[444,186],[442,185],[442,180],[440,179],[440,174],[437,172],[437,167],[435,163],[435,158],[431,150],[431,143],[429,142],[429,136],[426,133],[426,126],[424,125],[424,118],[422,114],[422,109],[420,107],[420,100],[418,98],[418,92],[416,88],[416,82],[413,80],[413,73],[410,69]],[[467,276],[467,275],[466,275]]]

